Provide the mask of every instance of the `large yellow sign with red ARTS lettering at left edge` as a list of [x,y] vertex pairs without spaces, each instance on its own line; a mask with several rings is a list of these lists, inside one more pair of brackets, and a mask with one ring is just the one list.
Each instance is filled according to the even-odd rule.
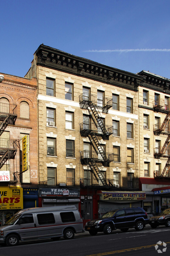
[[23,209],[22,187],[0,187],[0,210]]

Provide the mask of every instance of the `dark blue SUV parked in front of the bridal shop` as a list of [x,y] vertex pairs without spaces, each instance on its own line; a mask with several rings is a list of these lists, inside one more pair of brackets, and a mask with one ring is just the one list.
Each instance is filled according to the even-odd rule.
[[120,229],[123,232],[132,227],[136,230],[143,230],[148,223],[148,215],[143,208],[122,208],[109,211],[97,220],[88,221],[85,230],[89,231],[91,235],[96,235],[98,232],[111,234],[115,229]]

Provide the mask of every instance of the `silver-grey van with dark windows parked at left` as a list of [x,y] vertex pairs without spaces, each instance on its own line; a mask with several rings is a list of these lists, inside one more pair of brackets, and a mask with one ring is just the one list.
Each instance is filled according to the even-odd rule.
[[27,208],[0,227],[0,243],[14,246],[33,239],[72,239],[75,233],[82,232],[82,217],[75,206]]

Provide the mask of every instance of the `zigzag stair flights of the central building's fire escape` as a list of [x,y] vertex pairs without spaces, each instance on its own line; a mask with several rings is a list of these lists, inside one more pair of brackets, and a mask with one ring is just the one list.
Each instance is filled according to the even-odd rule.
[[[95,159],[94,157],[89,158],[88,165],[90,167],[91,172],[94,174],[95,178],[98,181],[100,180],[101,184],[103,186],[105,186],[105,185],[107,185],[107,181],[102,176],[99,165],[102,163],[104,166],[109,166],[109,163],[111,162],[111,160],[106,157],[106,153],[103,150],[100,138],[102,137],[103,139],[108,140],[109,135],[111,133],[110,134],[108,133],[104,123],[102,122],[98,106],[95,105],[91,101],[90,97],[87,98],[87,96],[86,96],[84,98],[85,98],[85,102],[84,101],[83,101],[83,103],[81,102],[80,106],[85,109],[88,109],[88,107],[91,109],[91,112],[93,113],[93,116],[91,116],[91,118],[96,126],[96,129],[97,129],[96,132],[94,130],[89,130],[88,133],[86,134],[88,136],[89,140],[91,141],[92,147],[94,148],[96,155],[98,156],[98,159]],[[82,97],[82,99],[83,99],[83,97]],[[110,101],[109,101],[109,103],[110,103]],[[103,112],[107,113],[108,109],[111,106],[112,105],[109,106],[109,104],[107,104],[106,108],[102,108]],[[106,109],[107,109],[107,111],[106,111]],[[101,131],[101,134],[99,134],[98,130]]]

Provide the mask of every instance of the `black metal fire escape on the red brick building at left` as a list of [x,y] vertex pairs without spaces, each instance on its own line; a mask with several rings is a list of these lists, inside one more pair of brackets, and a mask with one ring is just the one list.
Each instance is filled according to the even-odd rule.
[[[0,103],[0,136],[8,124],[15,124],[17,118],[17,106]],[[7,160],[14,159],[16,155],[16,140],[0,138],[0,169]]]

